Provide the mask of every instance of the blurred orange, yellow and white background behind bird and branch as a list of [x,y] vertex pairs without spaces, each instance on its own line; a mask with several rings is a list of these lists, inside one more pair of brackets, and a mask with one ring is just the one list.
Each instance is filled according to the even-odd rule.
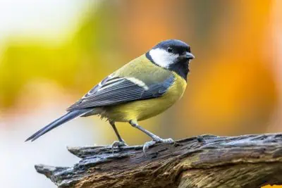
[[[163,138],[282,131],[282,1],[0,1],[0,178],[55,187],[36,163],[73,165],[66,146],[111,144],[111,126],[78,118],[34,143],[109,73],[164,39],[196,56],[183,99],[140,122]],[[149,137],[117,123],[125,141]],[[25,182],[25,184],[23,184]]]

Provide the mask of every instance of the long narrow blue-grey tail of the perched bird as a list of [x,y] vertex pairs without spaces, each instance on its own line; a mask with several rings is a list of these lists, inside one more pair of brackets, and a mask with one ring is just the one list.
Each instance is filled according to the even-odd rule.
[[49,132],[50,130],[62,125],[63,123],[68,122],[69,120],[72,120],[73,118],[76,118],[78,116],[84,115],[85,113],[88,113],[92,111],[93,109],[80,109],[80,110],[74,110],[66,113],[65,115],[61,116],[61,118],[58,118],[54,120],[49,125],[46,125],[41,130],[35,132],[35,134],[32,134],[29,138],[25,140],[25,142],[31,140],[35,141],[35,139],[41,137],[43,134]]

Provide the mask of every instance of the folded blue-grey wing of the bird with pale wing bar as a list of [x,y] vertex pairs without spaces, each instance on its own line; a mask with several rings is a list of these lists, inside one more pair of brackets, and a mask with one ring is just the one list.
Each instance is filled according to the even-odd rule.
[[170,75],[163,82],[153,82],[149,85],[133,77],[109,76],[70,106],[67,111],[156,98],[163,95],[173,82],[174,75]]

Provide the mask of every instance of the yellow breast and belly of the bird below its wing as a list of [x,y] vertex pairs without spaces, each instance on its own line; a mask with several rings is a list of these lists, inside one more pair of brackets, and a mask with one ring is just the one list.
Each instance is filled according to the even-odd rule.
[[106,107],[104,116],[116,122],[128,122],[146,120],[166,111],[183,96],[186,88],[186,81],[176,73],[173,74],[175,81],[163,96]]

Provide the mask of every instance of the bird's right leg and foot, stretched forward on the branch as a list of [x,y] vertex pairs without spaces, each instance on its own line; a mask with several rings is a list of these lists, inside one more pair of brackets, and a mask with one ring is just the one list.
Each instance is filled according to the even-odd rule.
[[137,121],[135,120],[130,120],[130,125],[132,125],[133,127],[137,128],[138,130],[141,130],[142,132],[144,132],[145,134],[147,134],[149,137],[151,137],[153,140],[150,142],[146,142],[143,146],[143,152],[146,155],[146,149],[149,148],[149,146],[153,146],[154,144],[157,143],[173,143],[173,139],[169,138],[169,139],[161,139],[160,137],[158,137],[156,134],[153,134],[152,132],[149,132],[148,130],[145,130],[143,127],[141,127],[140,125],[138,125]]

